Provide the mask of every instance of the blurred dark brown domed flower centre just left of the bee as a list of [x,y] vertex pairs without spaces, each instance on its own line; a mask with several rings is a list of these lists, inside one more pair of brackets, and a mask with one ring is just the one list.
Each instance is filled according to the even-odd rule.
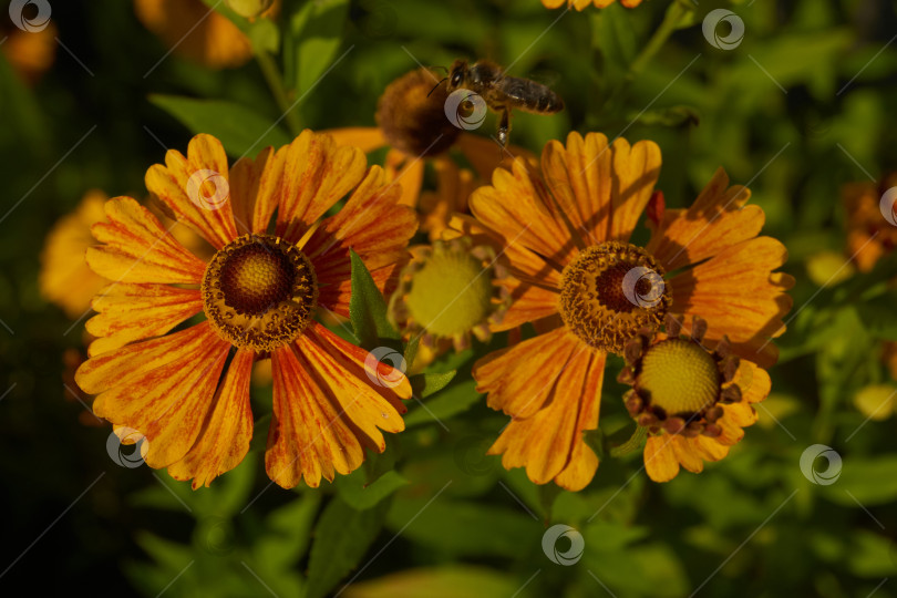
[[461,130],[445,116],[448,94],[444,84],[436,85],[437,81],[427,69],[417,69],[386,86],[377,104],[377,124],[390,145],[426,157],[455,143]]

